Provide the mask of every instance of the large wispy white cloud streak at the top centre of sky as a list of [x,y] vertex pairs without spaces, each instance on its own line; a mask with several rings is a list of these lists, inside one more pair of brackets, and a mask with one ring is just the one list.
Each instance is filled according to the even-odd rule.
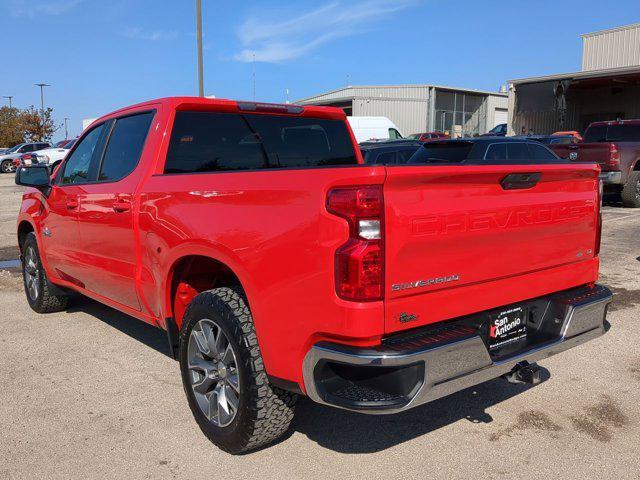
[[368,24],[415,3],[415,0],[334,0],[288,20],[254,16],[238,29],[242,50],[235,60],[284,62],[337,38],[361,33]]

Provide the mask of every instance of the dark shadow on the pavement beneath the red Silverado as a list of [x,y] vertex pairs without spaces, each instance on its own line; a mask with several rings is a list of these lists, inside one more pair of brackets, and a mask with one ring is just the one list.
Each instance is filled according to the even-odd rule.
[[[132,339],[171,357],[164,330],[136,320],[124,313],[75,296],[69,312],[83,312]],[[541,379],[549,379],[549,371],[541,368]],[[513,385],[504,380],[468,388],[448,397],[395,415],[363,415],[319,405],[301,397],[287,442],[293,432],[306,435],[324,448],[340,453],[374,453],[402,444],[460,420],[491,423],[487,409],[526,392],[530,385]]]

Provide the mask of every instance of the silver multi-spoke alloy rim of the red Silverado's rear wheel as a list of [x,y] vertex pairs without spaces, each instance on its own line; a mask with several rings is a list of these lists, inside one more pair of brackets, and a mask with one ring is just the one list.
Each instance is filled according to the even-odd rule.
[[228,426],[240,405],[240,377],[236,354],[215,321],[205,318],[193,326],[187,359],[191,389],[201,412],[214,425]]

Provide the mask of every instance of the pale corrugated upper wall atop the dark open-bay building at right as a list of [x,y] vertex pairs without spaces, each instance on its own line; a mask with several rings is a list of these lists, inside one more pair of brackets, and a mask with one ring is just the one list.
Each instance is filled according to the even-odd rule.
[[582,37],[582,70],[640,65],[640,24]]

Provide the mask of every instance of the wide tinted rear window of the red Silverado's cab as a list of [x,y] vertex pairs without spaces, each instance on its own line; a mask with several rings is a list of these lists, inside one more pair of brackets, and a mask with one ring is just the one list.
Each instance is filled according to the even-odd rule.
[[178,112],[165,173],[357,163],[351,137],[341,120]]

